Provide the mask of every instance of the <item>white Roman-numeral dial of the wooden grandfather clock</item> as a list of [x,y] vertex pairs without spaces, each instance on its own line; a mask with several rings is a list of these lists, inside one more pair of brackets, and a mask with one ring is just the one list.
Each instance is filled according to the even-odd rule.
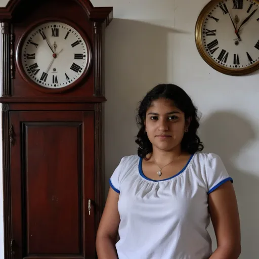
[[90,48],[75,28],[62,22],[47,22],[27,34],[21,60],[25,73],[36,84],[64,88],[88,68]]

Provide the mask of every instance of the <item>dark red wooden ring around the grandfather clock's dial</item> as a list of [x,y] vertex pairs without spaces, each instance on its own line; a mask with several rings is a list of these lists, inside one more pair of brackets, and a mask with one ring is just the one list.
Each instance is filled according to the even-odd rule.
[[[26,39],[26,37],[31,33],[31,31],[33,29],[35,29],[37,26],[40,26],[44,23],[48,23],[48,22],[62,22],[65,23],[69,26],[71,26],[72,28],[74,28],[82,37],[82,39],[85,42],[85,45],[87,46],[87,55],[88,55],[88,59],[86,61],[86,66],[84,71],[82,72],[82,74],[72,83],[70,83],[69,85],[66,85],[65,87],[62,88],[46,88],[40,84],[37,84],[35,81],[33,81],[25,72],[24,67],[22,65],[22,47],[24,44],[24,41]],[[16,64],[17,64],[17,69],[21,75],[21,77],[23,78],[23,80],[25,80],[29,87],[32,87],[40,92],[43,93],[49,93],[49,94],[54,94],[54,93],[63,93],[66,92],[74,87],[77,87],[80,82],[89,74],[90,70],[91,70],[91,66],[92,66],[92,62],[93,62],[93,55],[92,55],[92,47],[90,44],[90,40],[87,36],[87,34],[85,34],[85,32],[75,23],[71,22],[70,20],[66,19],[66,18],[44,18],[44,19],[40,19],[37,20],[36,22],[34,22],[33,24],[30,24],[24,31],[24,33],[21,35],[21,37],[18,40],[18,44],[17,44],[17,48],[16,48],[16,54],[15,54],[15,60],[16,60]]]

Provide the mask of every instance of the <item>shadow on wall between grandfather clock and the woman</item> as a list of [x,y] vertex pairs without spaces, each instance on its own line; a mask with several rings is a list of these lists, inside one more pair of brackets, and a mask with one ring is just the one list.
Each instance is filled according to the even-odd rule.
[[108,179],[120,158],[137,153],[134,137],[138,102],[157,83],[167,82],[167,37],[178,33],[189,32],[124,19],[114,19],[106,29],[106,193]]

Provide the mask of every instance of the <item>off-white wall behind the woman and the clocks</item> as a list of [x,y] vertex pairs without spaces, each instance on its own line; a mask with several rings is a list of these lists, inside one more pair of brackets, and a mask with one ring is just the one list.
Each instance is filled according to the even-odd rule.
[[[2,0],[0,4],[5,6],[7,2]],[[199,56],[194,27],[208,0],[93,0],[92,3],[114,8],[105,45],[106,191],[108,178],[120,157],[136,152],[138,101],[157,83],[176,83],[187,91],[202,113],[200,137],[205,151],[218,153],[234,178],[242,228],[239,258],[258,258],[259,71],[244,77],[227,76],[210,68]],[[1,183],[0,200],[3,201]],[[3,258],[2,219],[1,204],[0,258]],[[210,233],[215,241],[211,227]]]

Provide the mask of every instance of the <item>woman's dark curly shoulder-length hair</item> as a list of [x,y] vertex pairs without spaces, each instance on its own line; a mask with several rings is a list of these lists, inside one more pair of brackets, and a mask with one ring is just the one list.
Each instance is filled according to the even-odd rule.
[[152,101],[159,98],[172,100],[174,105],[185,114],[185,119],[192,118],[188,128],[188,132],[184,134],[181,142],[182,150],[190,154],[196,151],[203,150],[202,142],[197,135],[199,127],[199,118],[197,109],[193,105],[191,98],[186,92],[175,84],[158,84],[151,91],[147,93],[144,99],[139,103],[137,123],[140,127],[139,133],[136,136],[135,142],[139,145],[138,155],[145,158],[147,154],[151,153],[153,148],[145,131],[145,119],[147,109],[150,107]]

